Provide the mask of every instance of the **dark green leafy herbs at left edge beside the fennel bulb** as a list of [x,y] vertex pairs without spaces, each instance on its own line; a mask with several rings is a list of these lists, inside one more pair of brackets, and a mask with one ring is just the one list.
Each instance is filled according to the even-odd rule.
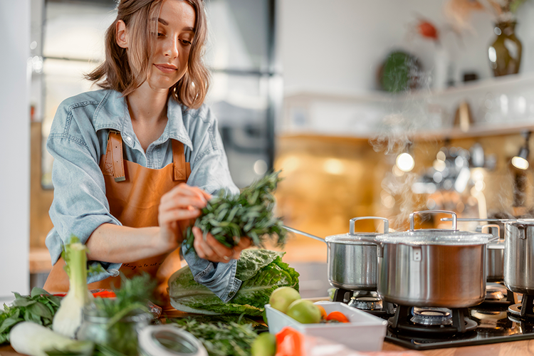
[[11,305],[4,304],[4,311],[0,311],[0,344],[9,341],[11,328],[22,321],[51,328],[53,315],[61,304],[60,297],[51,295],[42,288],[33,288],[30,295],[14,295],[14,302]]

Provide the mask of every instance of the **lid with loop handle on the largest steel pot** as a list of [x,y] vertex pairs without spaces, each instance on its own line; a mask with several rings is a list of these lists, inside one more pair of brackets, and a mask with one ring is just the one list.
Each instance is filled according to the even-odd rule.
[[[414,229],[414,216],[422,213],[446,213],[452,215],[452,229]],[[406,244],[412,246],[445,245],[445,246],[468,246],[483,245],[488,243],[491,234],[459,231],[457,229],[456,213],[454,211],[427,210],[414,211],[410,214],[410,229],[404,232],[382,234],[376,237],[376,241],[385,244]]]

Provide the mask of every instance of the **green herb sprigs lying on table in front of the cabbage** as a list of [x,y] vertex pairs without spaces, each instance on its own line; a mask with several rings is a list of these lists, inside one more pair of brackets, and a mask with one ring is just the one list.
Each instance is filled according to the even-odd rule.
[[250,324],[201,323],[192,318],[173,319],[179,328],[192,333],[206,347],[209,356],[249,356],[258,336]]

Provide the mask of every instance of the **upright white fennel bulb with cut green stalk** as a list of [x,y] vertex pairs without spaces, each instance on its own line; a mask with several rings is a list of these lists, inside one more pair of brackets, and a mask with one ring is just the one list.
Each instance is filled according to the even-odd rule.
[[67,266],[68,293],[54,315],[52,329],[61,335],[75,338],[83,322],[83,307],[94,298],[87,288],[87,247],[72,236],[61,255]]

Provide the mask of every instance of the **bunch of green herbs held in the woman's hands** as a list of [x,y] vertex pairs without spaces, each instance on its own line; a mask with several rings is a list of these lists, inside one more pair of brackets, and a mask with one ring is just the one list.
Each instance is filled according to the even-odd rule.
[[[283,245],[286,230],[281,219],[273,214],[273,191],[280,182],[278,174],[266,175],[258,182],[243,189],[241,194],[225,197],[221,190],[219,196],[211,199],[202,209],[201,216],[195,221],[204,237],[211,233],[214,238],[228,247],[239,244],[239,239],[248,236],[256,246],[263,247],[266,236],[278,236],[277,244]],[[194,236],[192,227],[185,231],[187,246],[192,246]]]

